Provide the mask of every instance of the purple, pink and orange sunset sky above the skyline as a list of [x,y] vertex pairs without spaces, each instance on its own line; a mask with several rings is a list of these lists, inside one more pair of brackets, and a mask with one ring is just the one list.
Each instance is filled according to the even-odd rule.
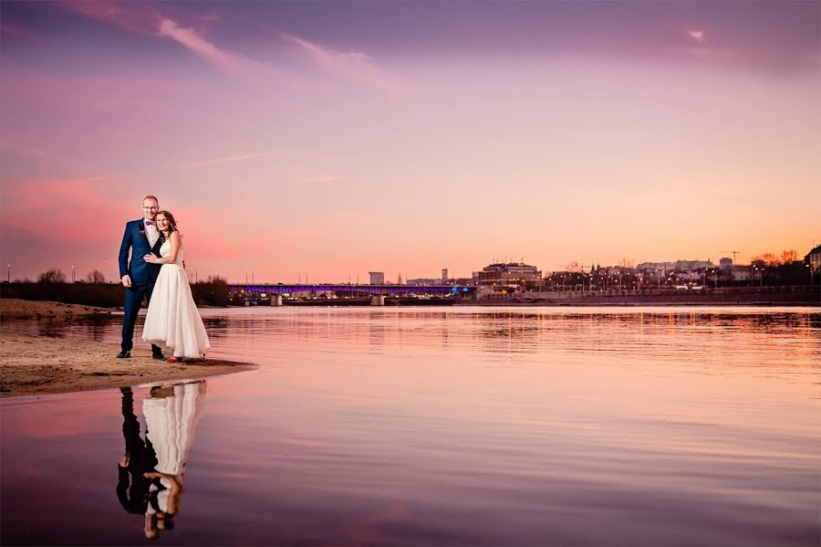
[[[470,276],[821,242],[818,2],[0,4],[2,264]],[[3,279],[5,279],[5,272]]]

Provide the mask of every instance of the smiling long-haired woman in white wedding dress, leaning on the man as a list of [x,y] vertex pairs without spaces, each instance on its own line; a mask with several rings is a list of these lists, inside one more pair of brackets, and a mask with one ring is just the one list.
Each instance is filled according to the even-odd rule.
[[199,359],[211,347],[203,319],[191,295],[188,276],[182,269],[182,236],[174,216],[160,211],[154,219],[165,240],[160,255],[145,255],[151,264],[161,264],[160,275],[151,293],[151,303],[145,316],[142,340],[165,345],[173,352],[169,363],[179,363],[183,357]]

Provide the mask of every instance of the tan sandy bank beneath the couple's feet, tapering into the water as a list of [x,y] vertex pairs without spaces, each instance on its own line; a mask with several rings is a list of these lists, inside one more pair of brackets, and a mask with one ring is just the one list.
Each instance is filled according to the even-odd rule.
[[117,359],[119,351],[120,346],[109,343],[0,332],[0,397],[161,383],[256,368],[215,359],[165,363],[141,348],[135,348],[130,359]]

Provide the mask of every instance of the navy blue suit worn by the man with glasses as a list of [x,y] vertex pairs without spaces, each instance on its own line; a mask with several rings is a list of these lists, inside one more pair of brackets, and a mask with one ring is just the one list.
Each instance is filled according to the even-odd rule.
[[[122,351],[130,352],[134,345],[134,325],[137,323],[137,315],[140,313],[142,298],[151,302],[151,292],[154,290],[154,283],[160,274],[160,264],[151,264],[142,259],[143,256],[153,253],[160,256],[162,245],[162,235],[157,239],[154,247],[151,247],[148,237],[145,234],[145,224],[143,219],[132,220],[126,224],[125,233],[122,235],[120,245],[120,278],[128,275],[131,278],[131,286],[126,287],[125,319],[122,322]],[[131,259],[129,261],[129,249]],[[151,344],[152,352],[160,352],[160,348]]]

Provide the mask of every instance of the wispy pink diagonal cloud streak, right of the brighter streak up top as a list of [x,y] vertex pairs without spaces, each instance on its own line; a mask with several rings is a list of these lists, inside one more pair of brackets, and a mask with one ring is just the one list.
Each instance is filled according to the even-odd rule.
[[292,34],[280,33],[280,37],[298,47],[318,68],[329,74],[379,89],[391,100],[400,100],[407,94],[405,89],[391,81],[366,53],[336,51]]

